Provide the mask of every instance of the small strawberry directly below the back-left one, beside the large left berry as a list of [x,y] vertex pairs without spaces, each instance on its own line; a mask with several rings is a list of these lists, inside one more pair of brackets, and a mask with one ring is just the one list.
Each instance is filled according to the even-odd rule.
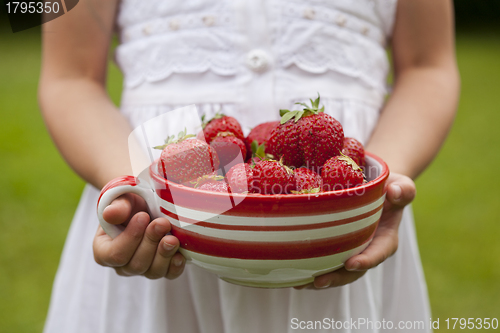
[[[247,156],[247,148],[243,141],[238,139],[232,132],[219,132],[210,142],[212,148],[219,156],[220,165],[226,167],[226,170],[232,165],[243,162]],[[241,155],[240,155],[241,154]],[[240,158],[237,158],[241,156]],[[236,159],[236,161],[235,161]]]

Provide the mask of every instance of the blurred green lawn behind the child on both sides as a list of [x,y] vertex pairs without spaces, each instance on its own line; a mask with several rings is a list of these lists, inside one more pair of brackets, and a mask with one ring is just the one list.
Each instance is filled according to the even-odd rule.
[[[4,29],[0,46],[0,332],[40,332],[84,184],[38,111],[39,35]],[[449,317],[500,317],[500,39],[461,34],[457,48],[459,113],[417,181],[414,205],[433,317],[442,325]],[[112,66],[115,102],[120,80]]]

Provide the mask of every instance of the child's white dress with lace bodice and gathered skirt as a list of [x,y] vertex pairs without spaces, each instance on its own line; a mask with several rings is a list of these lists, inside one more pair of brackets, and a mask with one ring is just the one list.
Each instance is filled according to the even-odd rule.
[[[395,0],[123,0],[116,51],[125,75],[122,112],[135,127],[195,103],[208,116],[222,109],[248,131],[320,92],[346,136],[366,143],[386,95],[395,7]],[[344,332],[384,332],[382,320],[394,327],[422,321],[419,331],[429,331],[409,208],[396,254],[358,281],[268,290],[232,285],[193,265],[173,281],[120,277],[97,265],[98,194],[87,186],[78,206],[46,333],[295,332],[310,325],[328,332],[331,319],[354,321],[337,329]]]

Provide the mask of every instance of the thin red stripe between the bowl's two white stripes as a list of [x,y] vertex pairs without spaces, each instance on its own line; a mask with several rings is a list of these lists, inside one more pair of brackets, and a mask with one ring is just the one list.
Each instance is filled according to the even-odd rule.
[[196,224],[197,226],[200,227],[205,227],[205,228],[213,228],[213,229],[221,229],[221,230],[248,230],[248,231],[294,231],[294,230],[311,230],[311,229],[321,229],[321,228],[328,228],[328,227],[334,227],[342,224],[347,224],[355,221],[359,221],[361,219],[364,219],[366,217],[372,216],[373,214],[377,213],[380,211],[383,207],[383,204],[380,205],[379,207],[364,213],[360,214],[357,216],[353,216],[350,218],[342,219],[342,220],[336,220],[336,221],[330,221],[330,222],[322,222],[322,223],[315,223],[315,224],[299,224],[299,225],[280,225],[280,226],[269,226],[269,225],[230,225],[230,224],[218,224],[218,223],[211,223],[211,222],[205,222],[205,221],[196,221],[189,219],[187,217],[179,216],[177,214],[174,214],[168,210],[166,210],[163,207],[160,207],[161,212],[173,219],[176,219],[181,222],[189,223],[189,224]]

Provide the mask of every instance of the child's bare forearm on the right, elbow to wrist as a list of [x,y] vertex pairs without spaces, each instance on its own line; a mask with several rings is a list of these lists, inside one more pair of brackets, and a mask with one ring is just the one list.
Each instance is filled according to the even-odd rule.
[[458,94],[454,64],[404,70],[396,78],[367,150],[382,157],[392,172],[415,179],[443,144]]

